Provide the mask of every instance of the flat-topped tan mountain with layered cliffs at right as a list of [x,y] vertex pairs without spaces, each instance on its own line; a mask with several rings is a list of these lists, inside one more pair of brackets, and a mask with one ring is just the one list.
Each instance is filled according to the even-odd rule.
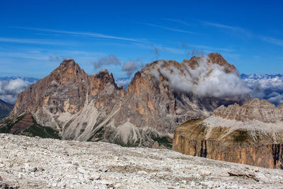
[[283,105],[266,100],[221,105],[208,118],[175,128],[173,149],[183,154],[283,169]]

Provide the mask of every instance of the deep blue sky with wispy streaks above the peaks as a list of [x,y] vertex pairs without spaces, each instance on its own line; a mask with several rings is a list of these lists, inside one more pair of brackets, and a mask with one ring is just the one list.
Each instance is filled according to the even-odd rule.
[[[220,52],[244,74],[282,74],[282,1],[13,1],[0,6],[0,76],[42,78],[64,58],[88,74],[139,59]],[[158,56],[156,50],[158,49]],[[121,65],[94,69],[115,55]]]

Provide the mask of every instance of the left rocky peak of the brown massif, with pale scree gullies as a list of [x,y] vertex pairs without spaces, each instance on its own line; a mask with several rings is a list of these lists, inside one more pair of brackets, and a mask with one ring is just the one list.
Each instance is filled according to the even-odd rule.
[[31,113],[38,124],[58,130],[63,139],[87,140],[124,95],[125,88],[118,87],[107,70],[88,75],[74,59],[65,59],[18,95],[9,118]]

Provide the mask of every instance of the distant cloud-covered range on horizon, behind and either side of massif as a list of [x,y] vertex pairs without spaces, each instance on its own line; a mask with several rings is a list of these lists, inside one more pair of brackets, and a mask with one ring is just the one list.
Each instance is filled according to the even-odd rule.
[[[283,74],[241,74],[241,79],[250,88],[251,98],[266,99],[275,105],[283,103]],[[38,79],[24,76],[0,77],[0,99],[15,103],[16,96]],[[129,86],[132,78],[116,78],[117,86]]]

